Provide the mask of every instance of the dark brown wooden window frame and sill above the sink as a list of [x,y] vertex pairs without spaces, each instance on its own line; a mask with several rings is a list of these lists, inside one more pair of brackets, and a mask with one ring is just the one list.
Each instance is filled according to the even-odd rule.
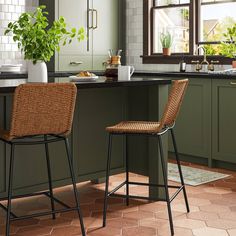
[[[153,7],[155,0],[143,0],[143,64],[176,64],[183,59],[187,63],[191,63],[193,60],[203,60],[203,56],[193,55],[195,51],[195,45],[201,44],[199,40],[199,33],[196,31],[196,27],[199,26],[200,21],[200,0],[190,1],[190,17],[189,19],[189,53],[173,53],[171,56],[163,56],[159,53],[153,53]],[[229,0],[229,2],[232,0]],[[220,64],[231,64],[233,59],[224,56],[207,56],[208,61],[219,61]]]

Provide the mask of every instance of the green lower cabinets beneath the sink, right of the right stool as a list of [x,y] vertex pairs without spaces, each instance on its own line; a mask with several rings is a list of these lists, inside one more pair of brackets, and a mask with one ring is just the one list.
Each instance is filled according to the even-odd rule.
[[[189,81],[175,127],[182,159],[235,168],[229,163],[236,164],[236,80]],[[173,152],[170,136],[169,151]]]

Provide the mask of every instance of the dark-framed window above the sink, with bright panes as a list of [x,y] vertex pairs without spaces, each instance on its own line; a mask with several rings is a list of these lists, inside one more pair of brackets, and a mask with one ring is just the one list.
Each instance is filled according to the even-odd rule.
[[[144,0],[144,58],[162,56],[160,35],[173,36],[172,56],[164,61],[193,59],[203,45],[213,59],[220,57],[219,43],[226,29],[236,23],[236,0]],[[217,56],[218,55],[218,56]],[[162,58],[163,59],[163,58]],[[146,60],[148,63],[149,60]],[[145,63],[145,60],[144,60]]]

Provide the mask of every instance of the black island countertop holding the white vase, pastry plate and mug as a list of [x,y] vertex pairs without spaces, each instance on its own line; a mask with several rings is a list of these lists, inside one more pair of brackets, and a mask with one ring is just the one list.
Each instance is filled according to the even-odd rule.
[[[68,77],[49,77],[49,82],[71,82]],[[0,93],[12,93],[15,88],[27,83],[27,79],[1,79]],[[133,76],[129,81],[117,81],[117,78],[100,76],[97,80],[92,82],[75,82],[78,89],[89,88],[114,88],[114,87],[133,87],[133,86],[150,86],[150,85],[165,85],[170,84],[171,79],[162,79],[156,76]]]

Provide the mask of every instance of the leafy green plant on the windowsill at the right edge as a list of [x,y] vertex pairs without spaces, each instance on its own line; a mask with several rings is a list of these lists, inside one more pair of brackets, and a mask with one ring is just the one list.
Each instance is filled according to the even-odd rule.
[[236,68],[236,23],[227,28],[226,33],[223,34],[225,40],[220,44],[220,53],[226,57],[232,58],[232,67]]

